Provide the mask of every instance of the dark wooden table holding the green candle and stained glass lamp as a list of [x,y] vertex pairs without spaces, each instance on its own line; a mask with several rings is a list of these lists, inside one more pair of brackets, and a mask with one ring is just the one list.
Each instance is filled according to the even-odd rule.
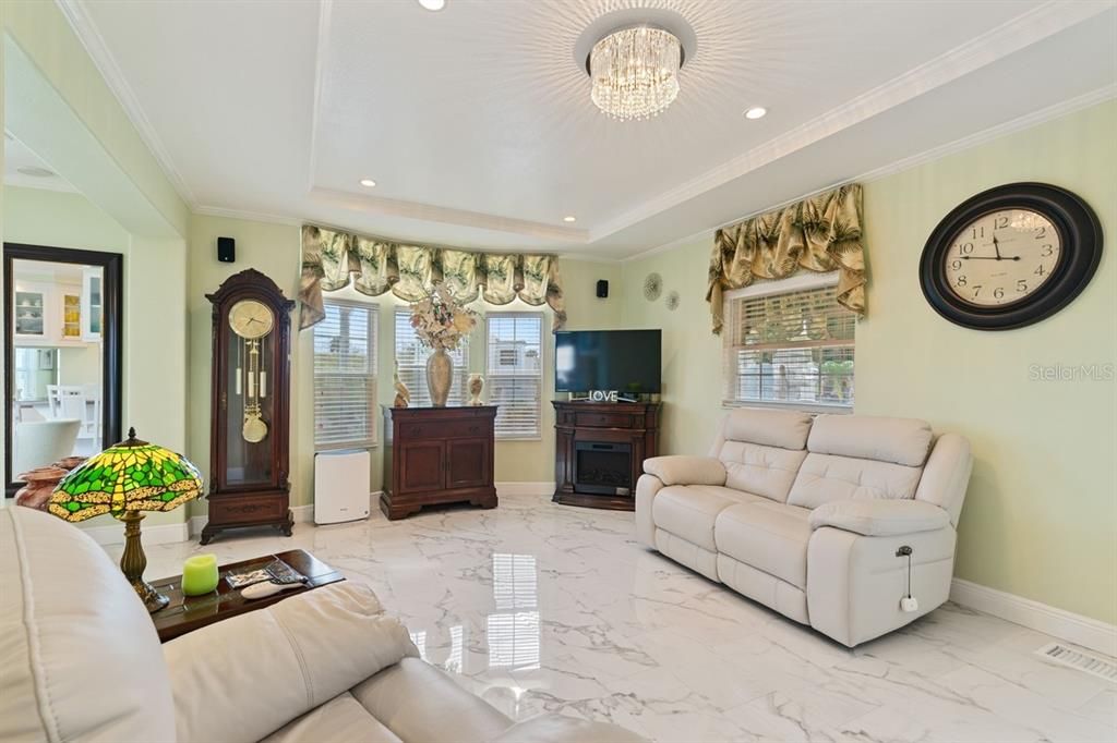
[[[309,579],[306,585],[303,588],[292,588],[280,591],[275,596],[248,601],[240,596],[239,590],[231,588],[228,581],[225,580],[225,576],[229,571],[244,572],[255,570],[277,559],[283,560],[306,576]],[[276,552],[275,554],[264,554],[250,560],[218,566],[218,570],[221,579],[218,581],[217,590],[204,596],[183,596],[182,576],[151,581],[155,590],[171,599],[169,605],[151,615],[152,621],[155,623],[155,629],[159,631],[159,640],[161,643],[174,639],[187,633],[192,633],[216,621],[256,611],[257,609],[262,609],[281,601],[285,598],[298,596],[315,588],[345,580],[342,573],[305,550],[289,550],[287,552]]]

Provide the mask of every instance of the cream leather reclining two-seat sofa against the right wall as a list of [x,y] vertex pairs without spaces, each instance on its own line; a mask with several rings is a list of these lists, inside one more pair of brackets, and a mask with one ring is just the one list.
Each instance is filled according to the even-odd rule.
[[637,532],[852,647],[946,601],[971,466],[965,438],[924,421],[743,408],[709,456],[643,463]]

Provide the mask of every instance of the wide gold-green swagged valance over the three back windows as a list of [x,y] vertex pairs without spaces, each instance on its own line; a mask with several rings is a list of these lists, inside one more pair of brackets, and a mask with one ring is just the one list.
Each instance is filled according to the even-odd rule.
[[409,302],[445,281],[461,302],[474,301],[480,295],[491,305],[507,305],[518,297],[535,307],[550,305],[555,330],[566,322],[558,259],[554,255],[402,245],[304,225],[299,327],[308,328],[325,317],[322,292],[342,289],[351,280],[354,289],[370,297],[391,291]]

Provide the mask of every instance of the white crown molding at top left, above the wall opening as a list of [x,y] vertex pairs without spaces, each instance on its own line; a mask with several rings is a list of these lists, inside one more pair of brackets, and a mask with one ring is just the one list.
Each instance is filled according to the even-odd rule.
[[187,202],[187,205],[191,210],[194,209],[198,202],[194,199],[193,191],[190,190],[185,178],[182,177],[182,173],[175,167],[174,161],[163,145],[163,141],[160,139],[155,127],[151,124],[151,119],[147,118],[147,114],[140,105],[140,99],[136,98],[132,86],[128,85],[127,79],[124,77],[124,73],[121,71],[120,65],[116,64],[116,58],[108,50],[104,37],[101,36],[97,26],[85,12],[82,0],[55,1],[74,30],[74,35],[77,36],[78,41],[82,42],[82,46],[93,60],[94,67],[101,73],[105,85],[112,90],[117,103],[124,109],[124,114],[136,128],[140,138],[147,145],[147,149],[151,151],[151,154],[155,157],[163,173],[171,182],[171,186],[179,194],[179,197]]

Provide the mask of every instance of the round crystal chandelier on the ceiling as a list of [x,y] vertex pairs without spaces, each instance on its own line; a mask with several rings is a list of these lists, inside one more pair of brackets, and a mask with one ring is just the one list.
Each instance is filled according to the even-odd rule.
[[613,31],[590,52],[594,105],[627,122],[658,116],[679,95],[682,47],[671,32],[651,26]]

